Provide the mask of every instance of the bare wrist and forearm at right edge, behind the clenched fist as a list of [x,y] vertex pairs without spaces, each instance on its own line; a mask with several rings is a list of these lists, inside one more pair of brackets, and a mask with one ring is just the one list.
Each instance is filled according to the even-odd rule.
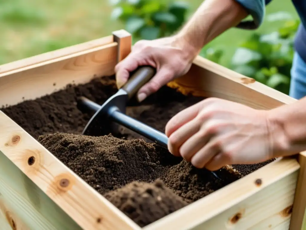
[[306,150],[306,97],[269,111],[274,152],[292,155]]

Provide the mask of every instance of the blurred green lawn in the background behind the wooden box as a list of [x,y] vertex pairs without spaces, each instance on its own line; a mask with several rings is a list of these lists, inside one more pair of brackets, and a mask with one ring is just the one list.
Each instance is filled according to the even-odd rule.
[[[192,13],[202,0],[188,2]],[[110,19],[111,11],[107,0],[0,0],[0,64],[107,36],[124,28]],[[297,18],[290,0],[274,0],[267,6],[267,14],[278,11]],[[278,23],[265,21],[259,31],[268,33]],[[207,47],[226,47],[222,59],[226,63],[235,46],[251,33],[230,29]]]

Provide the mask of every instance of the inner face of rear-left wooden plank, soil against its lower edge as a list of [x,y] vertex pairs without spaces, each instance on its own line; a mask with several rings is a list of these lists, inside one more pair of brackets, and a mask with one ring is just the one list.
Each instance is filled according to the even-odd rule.
[[113,75],[117,45],[113,42],[33,64],[26,70],[21,70],[22,67],[14,73],[0,74],[0,108],[54,93],[67,84],[87,83],[95,76]]

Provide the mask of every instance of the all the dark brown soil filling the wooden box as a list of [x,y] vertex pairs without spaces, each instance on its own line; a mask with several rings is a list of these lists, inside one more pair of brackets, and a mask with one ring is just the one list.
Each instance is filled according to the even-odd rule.
[[[2,111],[140,226],[271,162],[224,167],[220,181],[126,128],[116,137],[80,135],[93,112],[78,107],[78,97],[103,104],[116,91],[114,76],[97,78]],[[141,105],[129,102],[127,114],[164,132],[172,116],[200,100],[165,86]]]

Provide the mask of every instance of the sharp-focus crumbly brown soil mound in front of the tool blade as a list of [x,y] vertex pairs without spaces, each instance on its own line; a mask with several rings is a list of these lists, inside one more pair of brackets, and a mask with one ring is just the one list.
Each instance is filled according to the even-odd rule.
[[54,133],[38,141],[101,194],[133,181],[153,182],[166,171],[160,156],[169,154],[166,149],[157,153],[155,144],[141,139],[111,135]]

